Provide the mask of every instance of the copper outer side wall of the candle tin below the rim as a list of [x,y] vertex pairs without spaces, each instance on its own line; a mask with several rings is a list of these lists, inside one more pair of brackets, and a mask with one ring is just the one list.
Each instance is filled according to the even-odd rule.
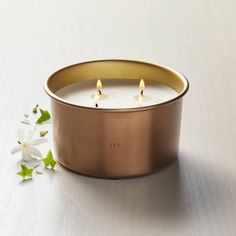
[[177,157],[182,100],[141,111],[104,112],[52,100],[56,156],[67,168],[119,178],[152,173]]

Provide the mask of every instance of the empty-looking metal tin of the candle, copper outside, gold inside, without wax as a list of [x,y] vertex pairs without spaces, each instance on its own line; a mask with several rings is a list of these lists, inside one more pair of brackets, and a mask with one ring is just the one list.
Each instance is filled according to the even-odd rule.
[[[110,78],[154,80],[179,95],[131,109],[87,108],[55,95],[75,82]],[[177,71],[139,61],[89,61],[55,72],[44,87],[51,97],[58,161],[70,170],[103,178],[146,175],[166,166],[178,155],[182,99],[188,86]]]

